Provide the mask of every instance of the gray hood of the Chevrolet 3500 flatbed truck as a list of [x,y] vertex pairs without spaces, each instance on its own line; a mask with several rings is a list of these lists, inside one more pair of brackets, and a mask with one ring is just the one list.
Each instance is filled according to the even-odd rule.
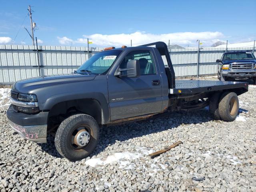
[[51,86],[56,84],[71,83],[78,81],[94,80],[96,75],[85,74],[63,74],[63,75],[49,75],[25,80],[17,81],[13,84],[12,90],[19,93],[29,93],[39,87]]

